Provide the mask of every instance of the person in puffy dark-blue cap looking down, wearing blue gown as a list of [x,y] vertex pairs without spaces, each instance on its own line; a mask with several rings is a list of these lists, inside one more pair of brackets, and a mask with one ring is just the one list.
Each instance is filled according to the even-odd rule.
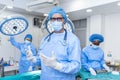
[[96,75],[96,70],[110,71],[104,61],[104,51],[99,46],[104,42],[104,37],[101,34],[92,34],[89,41],[92,44],[82,50],[82,68],[85,71],[90,71],[92,75]]

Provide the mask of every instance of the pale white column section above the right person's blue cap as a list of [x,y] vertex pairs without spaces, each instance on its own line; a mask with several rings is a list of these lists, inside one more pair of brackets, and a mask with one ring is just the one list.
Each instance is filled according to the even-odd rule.
[[104,34],[104,17],[103,15],[93,15],[87,18],[87,45],[90,44],[89,36],[94,33]]

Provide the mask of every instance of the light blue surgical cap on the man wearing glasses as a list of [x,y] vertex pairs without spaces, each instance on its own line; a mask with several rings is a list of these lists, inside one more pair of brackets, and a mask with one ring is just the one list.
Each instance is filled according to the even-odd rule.
[[67,16],[66,16],[65,11],[64,11],[61,7],[59,7],[59,6],[54,7],[54,8],[50,11],[50,13],[48,14],[48,20],[50,20],[50,18],[52,18],[52,16],[53,16],[55,13],[61,14],[62,17],[64,18],[65,22],[67,21]]

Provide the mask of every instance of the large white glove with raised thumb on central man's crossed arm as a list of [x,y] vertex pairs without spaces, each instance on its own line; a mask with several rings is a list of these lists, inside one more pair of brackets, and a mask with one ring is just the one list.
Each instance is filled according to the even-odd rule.
[[49,67],[52,67],[56,70],[61,70],[62,69],[62,64],[59,63],[57,60],[56,60],[56,57],[55,57],[55,53],[52,52],[52,57],[47,57],[45,55],[43,55],[42,53],[40,54],[40,59],[41,61],[46,65],[46,66],[49,66]]

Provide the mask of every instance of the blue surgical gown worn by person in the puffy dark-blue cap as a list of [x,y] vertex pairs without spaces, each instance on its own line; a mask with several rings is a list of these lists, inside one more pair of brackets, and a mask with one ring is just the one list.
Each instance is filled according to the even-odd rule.
[[81,61],[82,68],[86,71],[89,71],[89,68],[94,70],[104,69],[104,52],[100,47],[94,49],[92,46],[87,46],[82,50]]

